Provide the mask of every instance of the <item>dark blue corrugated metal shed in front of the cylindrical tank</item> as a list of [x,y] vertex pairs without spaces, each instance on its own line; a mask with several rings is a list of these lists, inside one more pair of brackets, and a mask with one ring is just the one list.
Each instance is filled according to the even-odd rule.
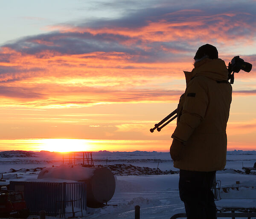
[[[23,192],[31,213],[45,210],[48,215],[65,216],[67,211],[86,211],[86,183],[84,182],[10,181],[10,190]],[[72,205],[75,210],[72,210]]]

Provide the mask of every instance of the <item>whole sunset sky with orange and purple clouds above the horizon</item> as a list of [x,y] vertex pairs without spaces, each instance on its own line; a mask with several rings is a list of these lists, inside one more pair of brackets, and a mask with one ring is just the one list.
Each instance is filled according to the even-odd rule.
[[198,47],[239,72],[228,150],[256,150],[256,0],[1,3],[0,150],[169,151]]

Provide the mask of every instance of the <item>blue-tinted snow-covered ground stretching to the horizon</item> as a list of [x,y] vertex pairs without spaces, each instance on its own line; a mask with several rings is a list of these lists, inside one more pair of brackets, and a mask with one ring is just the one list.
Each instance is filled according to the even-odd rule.
[[[76,154],[76,157],[79,157],[79,154]],[[135,205],[140,205],[142,219],[170,218],[176,213],[185,212],[178,192],[179,175],[164,174],[177,171],[173,167],[169,153],[101,151],[93,153],[93,158],[95,165],[107,164],[108,167],[114,167],[116,190],[113,198],[108,202],[109,206],[98,209],[88,208],[86,218],[133,219]],[[68,160],[64,161],[67,162]],[[82,160],[76,161],[76,164],[81,162]],[[221,200],[215,202],[218,209],[247,207],[256,210],[256,174],[253,172],[247,175],[242,170],[243,166],[253,167],[255,162],[256,151],[227,153],[226,170],[217,171],[216,174],[216,180],[221,181]],[[59,153],[0,152],[0,173],[3,173],[3,178],[18,178],[12,180],[35,180],[43,167],[60,164],[62,164],[62,155]],[[155,175],[157,167],[159,175]],[[8,181],[7,179],[2,184]],[[239,184],[236,184],[237,181]]]

